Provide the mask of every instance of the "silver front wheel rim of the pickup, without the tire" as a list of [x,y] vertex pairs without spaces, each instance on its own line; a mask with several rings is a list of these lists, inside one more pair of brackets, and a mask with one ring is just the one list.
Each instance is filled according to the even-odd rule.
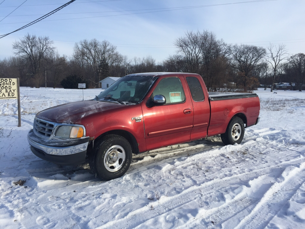
[[111,146],[104,157],[105,168],[110,172],[117,172],[123,166],[126,153],[123,147],[119,145]]

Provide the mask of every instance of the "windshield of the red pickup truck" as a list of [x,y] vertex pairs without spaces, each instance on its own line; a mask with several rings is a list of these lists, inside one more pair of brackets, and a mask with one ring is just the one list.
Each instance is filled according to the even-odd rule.
[[122,77],[96,96],[95,100],[122,104],[139,103],[156,79],[156,77],[150,76]]

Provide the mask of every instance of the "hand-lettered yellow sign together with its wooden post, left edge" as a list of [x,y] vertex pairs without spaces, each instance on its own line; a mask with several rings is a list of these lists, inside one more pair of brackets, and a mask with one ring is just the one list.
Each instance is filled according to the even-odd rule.
[[21,126],[19,78],[0,78],[0,100],[17,99],[18,127]]

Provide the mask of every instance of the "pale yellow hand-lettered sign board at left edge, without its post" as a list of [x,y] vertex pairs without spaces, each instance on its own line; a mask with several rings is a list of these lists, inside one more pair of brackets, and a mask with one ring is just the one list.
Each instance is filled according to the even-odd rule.
[[17,99],[17,79],[0,78],[0,99]]

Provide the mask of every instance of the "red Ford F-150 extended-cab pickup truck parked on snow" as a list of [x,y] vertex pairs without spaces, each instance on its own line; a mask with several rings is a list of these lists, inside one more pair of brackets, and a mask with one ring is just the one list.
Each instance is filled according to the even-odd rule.
[[101,179],[122,176],[132,153],[221,135],[240,144],[259,121],[255,93],[208,93],[200,75],[126,75],[92,100],[37,113],[28,133],[31,151],[46,161],[75,165],[88,157]]

